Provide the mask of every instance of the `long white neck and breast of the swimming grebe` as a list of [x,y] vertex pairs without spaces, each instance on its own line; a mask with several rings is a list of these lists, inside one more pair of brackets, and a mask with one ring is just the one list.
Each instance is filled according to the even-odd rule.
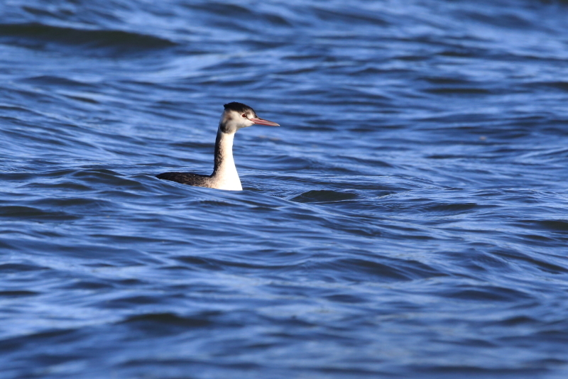
[[224,133],[217,131],[217,141],[215,141],[215,167],[211,175],[214,188],[230,189],[241,191],[241,180],[239,173],[236,172],[235,161],[233,160],[233,139],[235,133]]

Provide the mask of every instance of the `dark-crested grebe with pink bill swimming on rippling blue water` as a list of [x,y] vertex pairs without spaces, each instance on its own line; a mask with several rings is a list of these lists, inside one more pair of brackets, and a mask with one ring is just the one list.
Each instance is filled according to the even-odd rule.
[[172,180],[184,185],[241,191],[241,180],[233,160],[233,139],[236,131],[252,125],[278,126],[278,123],[261,119],[250,106],[232,102],[224,105],[215,141],[213,173],[200,175],[192,172],[164,172],[158,179]]

